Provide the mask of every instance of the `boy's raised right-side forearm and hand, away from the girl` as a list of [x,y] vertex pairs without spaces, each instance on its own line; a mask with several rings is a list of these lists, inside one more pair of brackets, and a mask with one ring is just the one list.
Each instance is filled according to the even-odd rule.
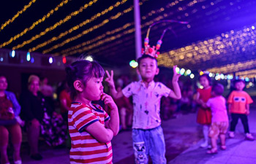
[[181,99],[181,89],[178,86],[178,78],[181,77],[181,74],[177,74],[176,67],[177,66],[173,66],[173,92],[170,92],[169,97]]

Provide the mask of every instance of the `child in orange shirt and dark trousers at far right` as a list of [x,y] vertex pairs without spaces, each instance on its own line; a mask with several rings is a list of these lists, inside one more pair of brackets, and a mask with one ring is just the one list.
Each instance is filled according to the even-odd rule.
[[235,82],[236,90],[230,93],[227,104],[228,112],[231,114],[231,123],[230,123],[230,138],[235,137],[235,129],[238,123],[238,119],[241,119],[242,124],[244,125],[244,133],[246,134],[246,139],[253,141],[255,138],[249,133],[248,125],[248,114],[249,114],[249,104],[252,104],[252,98],[244,90],[245,83],[244,80],[238,79]]

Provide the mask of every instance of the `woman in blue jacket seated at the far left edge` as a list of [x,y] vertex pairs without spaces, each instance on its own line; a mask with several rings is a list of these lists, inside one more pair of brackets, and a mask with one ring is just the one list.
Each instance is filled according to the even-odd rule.
[[10,163],[7,156],[7,147],[9,136],[14,148],[13,160],[15,164],[21,164],[20,144],[22,134],[19,122],[20,105],[15,97],[15,94],[7,91],[7,79],[0,75],[0,152],[1,163]]

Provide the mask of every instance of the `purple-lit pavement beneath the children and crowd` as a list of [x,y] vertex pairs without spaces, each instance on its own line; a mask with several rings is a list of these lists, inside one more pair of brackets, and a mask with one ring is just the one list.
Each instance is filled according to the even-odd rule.
[[[215,155],[206,154],[207,149],[200,148],[203,141],[202,128],[195,122],[196,114],[178,114],[176,119],[164,120],[162,128],[165,134],[167,163],[184,164],[250,164],[256,163],[256,141],[244,140],[244,128],[241,121],[236,127],[235,138],[227,138],[227,149],[219,150]],[[256,138],[256,108],[249,114],[249,128]],[[121,131],[113,138],[113,163],[134,163],[132,132]],[[23,164],[65,164],[69,163],[67,148],[53,149],[40,141],[39,148],[43,160],[35,161],[29,157],[28,144],[23,143],[21,157]],[[149,162],[151,163],[151,162]]]

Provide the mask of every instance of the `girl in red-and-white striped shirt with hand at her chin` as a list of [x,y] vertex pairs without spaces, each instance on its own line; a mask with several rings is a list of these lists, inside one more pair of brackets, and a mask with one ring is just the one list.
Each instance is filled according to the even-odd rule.
[[[103,93],[105,71],[99,63],[88,60],[78,60],[66,71],[74,101],[68,114],[70,163],[112,163],[110,141],[118,133],[119,117],[113,99]],[[108,113],[101,106],[91,104],[99,99],[108,106]]]

